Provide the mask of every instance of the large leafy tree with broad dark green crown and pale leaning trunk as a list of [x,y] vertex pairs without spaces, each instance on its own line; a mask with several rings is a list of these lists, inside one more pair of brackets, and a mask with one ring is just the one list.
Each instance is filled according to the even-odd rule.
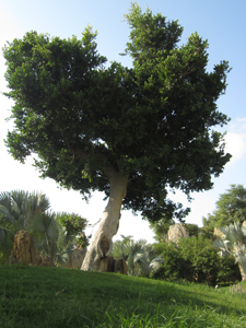
[[133,3],[126,20],[131,68],[106,66],[90,27],[81,40],[30,32],[3,49],[15,101],[10,153],[21,162],[35,154],[43,177],[85,197],[108,197],[83,270],[110,253],[121,207],[152,221],[181,218],[168,190],[210,189],[230,160],[212,130],[229,120],[216,107],[229,63],[208,72],[207,40],[192,34],[179,45],[183,27],[149,9]]

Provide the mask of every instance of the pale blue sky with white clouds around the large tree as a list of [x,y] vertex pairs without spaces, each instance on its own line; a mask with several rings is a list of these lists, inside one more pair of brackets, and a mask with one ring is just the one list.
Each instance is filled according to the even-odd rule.
[[[153,13],[162,13],[168,21],[178,20],[184,26],[181,44],[191,33],[197,32],[209,42],[208,70],[221,60],[227,60],[232,71],[227,78],[227,90],[218,101],[218,108],[231,118],[225,132],[226,150],[233,157],[225,165],[219,178],[213,179],[213,188],[204,192],[191,194],[192,202],[179,191],[172,196],[174,200],[191,208],[186,218],[187,223],[202,226],[202,216],[215,210],[215,202],[221,194],[226,192],[232,184],[246,187],[246,66],[245,66],[245,0],[139,0],[138,4],[145,10],[148,5]],[[131,66],[129,57],[119,56],[126,48],[129,27],[124,20],[131,1],[128,0],[0,0],[0,48],[13,38],[22,38],[28,31],[48,33],[50,36],[68,38],[81,37],[87,26],[98,32],[97,49],[108,61],[116,60],[124,66]],[[4,80],[4,58],[0,50],[0,191],[37,190],[47,195],[56,212],[67,211],[86,218],[91,224],[86,234],[94,234],[98,225],[93,226],[102,216],[106,202],[104,195],[94,192],[89,203],[81,199],[79,191],[61,189],[51,179],[42,179],[32,166],[32,159],[25,164],[14,161],[8,153],[3,139],[12,124],[5,121],[13,105],[2,92],[8,91]],[[154,234],[149,223],[141,215],[122,211],[117,235],[133,236],[153,243]]]

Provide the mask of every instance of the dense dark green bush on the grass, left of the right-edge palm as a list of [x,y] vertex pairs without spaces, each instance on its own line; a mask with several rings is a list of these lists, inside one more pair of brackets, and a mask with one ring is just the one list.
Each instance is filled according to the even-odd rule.
[[153,278],[185,279],[215,285],[220,282],[241,280],[238,266],[232,256],[221,258],[212,241],[198,237],[180,238],[174,243],[156,244],[164,263]]

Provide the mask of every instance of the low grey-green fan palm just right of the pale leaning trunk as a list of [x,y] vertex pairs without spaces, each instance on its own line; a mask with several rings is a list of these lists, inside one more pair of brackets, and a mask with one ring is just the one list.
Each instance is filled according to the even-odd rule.
[[147,244],[145,239],[134,242],[131,236],[117,241],[113,246],[113,256],[124,258],[127,261],[129,276],[148,277],[157,270],[163,262],[162,258],[155,257],[153,246]]

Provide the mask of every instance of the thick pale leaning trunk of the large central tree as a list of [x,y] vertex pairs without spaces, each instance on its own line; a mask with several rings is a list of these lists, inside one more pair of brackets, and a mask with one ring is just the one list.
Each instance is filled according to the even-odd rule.
[[[112,251],[112,238],[119,227],[120,208],[127,192],[128,176],[113,171],[109,174],[109,183],[110,195],[103,213],[102,223],[81,266],[81,270],[84,271],[101,271],[101,266],[104,266],[103,259]],[[104,271],[103,268],[102,271]]]

